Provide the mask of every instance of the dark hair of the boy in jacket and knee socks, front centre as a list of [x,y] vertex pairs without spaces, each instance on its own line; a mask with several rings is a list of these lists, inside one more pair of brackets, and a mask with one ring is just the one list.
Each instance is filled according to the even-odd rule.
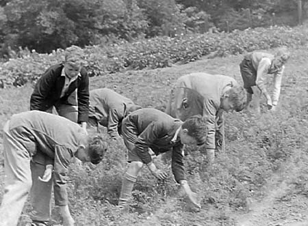
[[188,130],[188,135],[196,139],[197,145],[203,145],[207,139],[206,117],[193,115],[182,124],[183,129]]

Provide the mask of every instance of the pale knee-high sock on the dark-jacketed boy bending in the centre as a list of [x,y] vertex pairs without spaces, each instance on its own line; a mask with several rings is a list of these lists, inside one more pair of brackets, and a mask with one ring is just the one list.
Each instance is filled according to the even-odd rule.
[[131,191],[133,190],[133,184],[135,184],[136,181],[137,181],[136,176],[130,175],[129,173],[124,174],[124,177],[122,180],[120,198],[118,201],[118,207],[123,213],[129,212],[129,205],[127,202],[131,198]]

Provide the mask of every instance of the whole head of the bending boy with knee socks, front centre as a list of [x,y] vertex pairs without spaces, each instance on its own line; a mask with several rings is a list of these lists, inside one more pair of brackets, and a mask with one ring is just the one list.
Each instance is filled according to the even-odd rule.
[[194,115],[186,119],[179,136],[183,144],[203,145],[207,139],[206,117]]

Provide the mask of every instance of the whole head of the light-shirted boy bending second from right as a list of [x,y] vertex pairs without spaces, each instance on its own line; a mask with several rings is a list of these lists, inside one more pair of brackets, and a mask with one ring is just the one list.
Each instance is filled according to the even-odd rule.
[[228,89],[220,102],[220,108],[226,112],[242,111],[246,104],[246,91],[240,85]]

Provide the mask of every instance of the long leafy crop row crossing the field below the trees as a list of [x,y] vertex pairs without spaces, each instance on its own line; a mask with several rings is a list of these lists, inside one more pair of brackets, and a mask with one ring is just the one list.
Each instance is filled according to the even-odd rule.
[[[308,29],[303,26],[159,37],[133,43],[88,46],[84,48],[84,66],[90,76],[100,76],[123,70],[164,68],[173,63],[195,61],[209,54],[224,57],[279,46],[294,48],[306,44],[307,40]],[[64,59],[63,52],[61,49],[51,54],[29,51],[21,57],[10,59],[0,64],[0,79],[7,85],[15,86],[36,81],[49,66]]]

